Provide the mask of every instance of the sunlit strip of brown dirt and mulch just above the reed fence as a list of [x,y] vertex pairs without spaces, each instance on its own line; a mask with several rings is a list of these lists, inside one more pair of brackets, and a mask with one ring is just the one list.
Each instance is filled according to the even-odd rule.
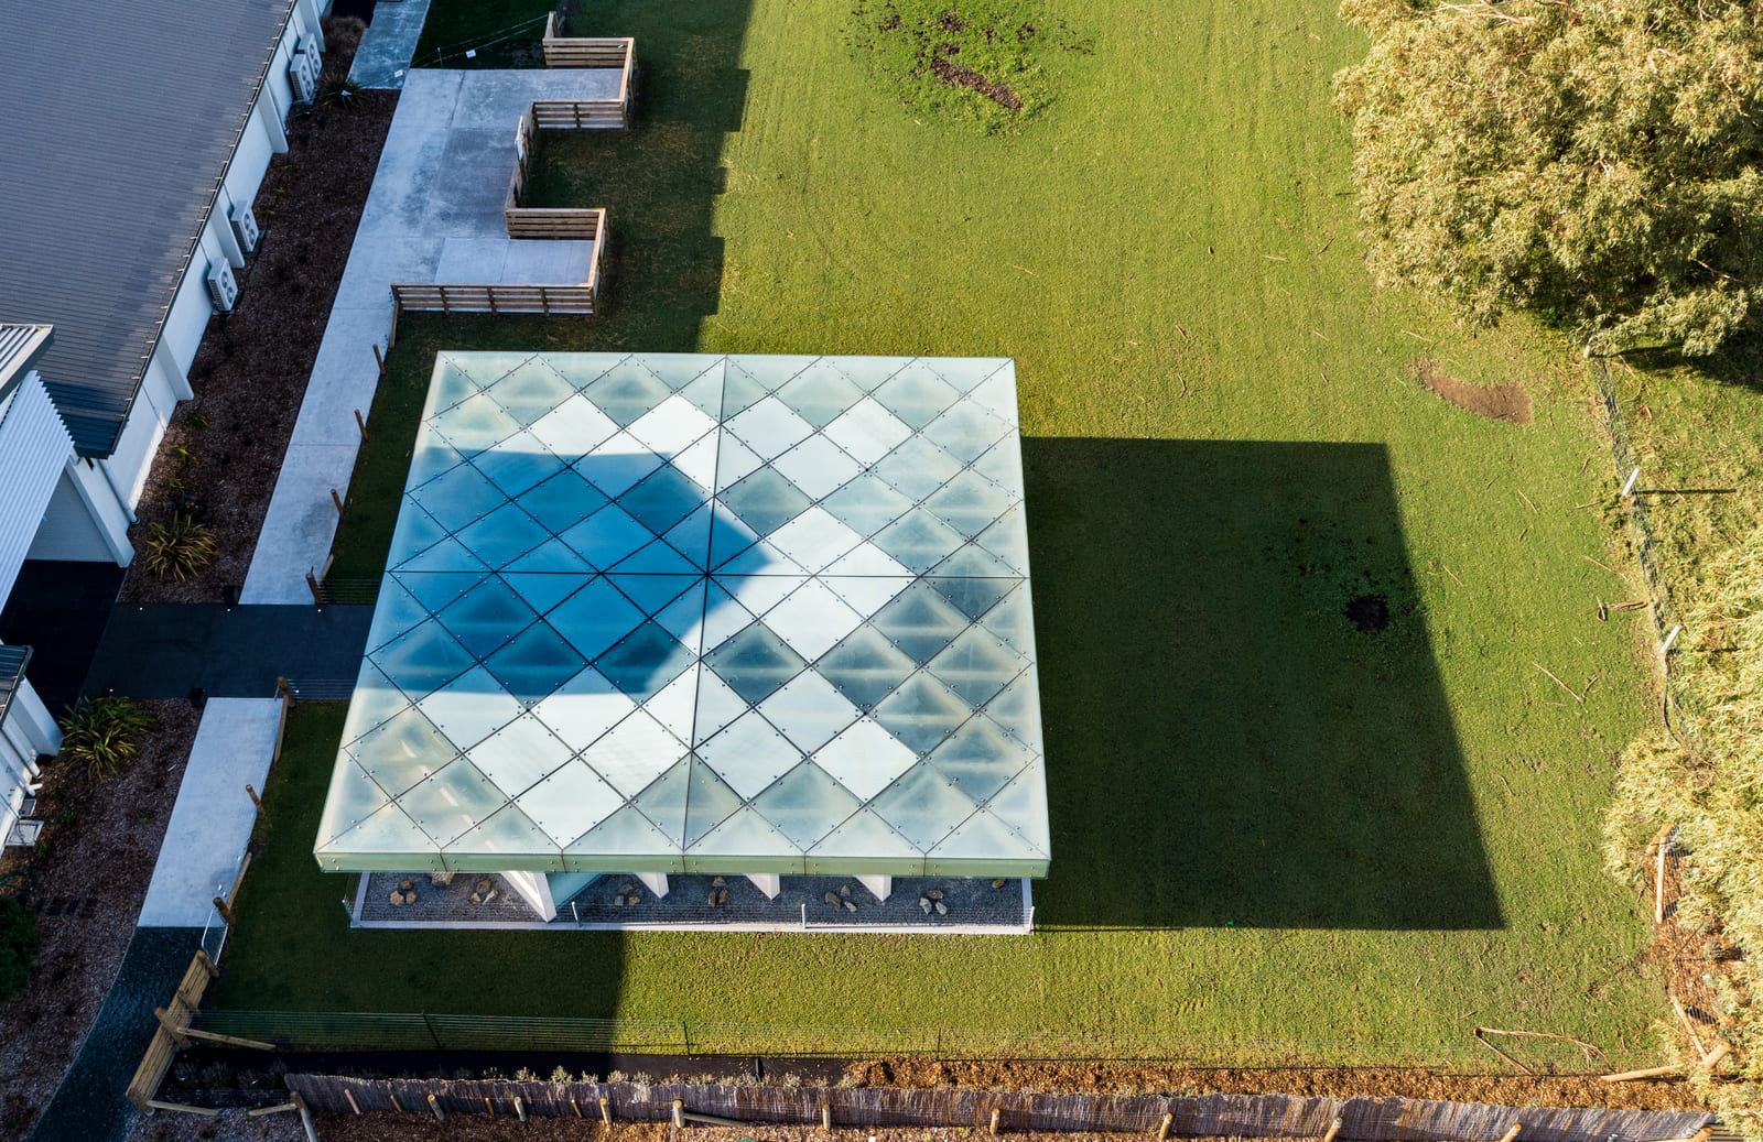
[[1610,1107],[1678,1110],[1701,1107],[1687,1082],[1599,1082],[1596,1075],[1451,1075],[1425,1068],[1155,1066],[1128,1063],[950,1063],[882,1059],[855,1063],[859,1086],[978,1087],[1100,1094],[1298,1094],[1324,1098],[1435,1098],[1513,1107]]

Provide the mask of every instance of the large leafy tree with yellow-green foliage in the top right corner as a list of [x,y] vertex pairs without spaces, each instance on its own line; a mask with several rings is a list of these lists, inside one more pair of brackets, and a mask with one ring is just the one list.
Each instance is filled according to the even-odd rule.
[[1588,354],[1715,352],[1763,314],[1763,4],[1343,0],[1373,277]]

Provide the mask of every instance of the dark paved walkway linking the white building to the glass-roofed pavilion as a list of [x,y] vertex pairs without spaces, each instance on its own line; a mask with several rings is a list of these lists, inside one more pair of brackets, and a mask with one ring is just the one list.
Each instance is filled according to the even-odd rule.
[[273,698],[275,679],[353,680],[372,606],[123,604],[92,656],[88,694]]

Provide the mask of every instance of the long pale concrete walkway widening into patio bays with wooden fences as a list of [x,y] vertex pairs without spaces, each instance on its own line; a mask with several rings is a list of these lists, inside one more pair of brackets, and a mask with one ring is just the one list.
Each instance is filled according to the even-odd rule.
[[[407,76],[257,536],[243,603],[312,599],[305,575],[324,564],[337,532],[330,492],[347,490],[354,471],[361,444],[354,412],[365,416],[374,404],[374,345],[384,349],[391,330],[391,282],[494,282],[506,277],[511,252],[518,252],[522,273],[538,275],[524,278],[532,282],[571,280],[566,270],[587,264],[592,243],[508,236],[502,206],[515,166],[515,125],[534,99],[614,99],[617,86],[617,69],[606,67],[421,69]],[[552,257],[555,270],[543,264]]]

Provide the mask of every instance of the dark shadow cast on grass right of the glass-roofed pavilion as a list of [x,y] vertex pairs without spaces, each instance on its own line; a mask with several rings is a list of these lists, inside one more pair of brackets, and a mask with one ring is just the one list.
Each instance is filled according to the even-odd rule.
[[1379,444],[1024,439],[1047,927],[1491,929]]

